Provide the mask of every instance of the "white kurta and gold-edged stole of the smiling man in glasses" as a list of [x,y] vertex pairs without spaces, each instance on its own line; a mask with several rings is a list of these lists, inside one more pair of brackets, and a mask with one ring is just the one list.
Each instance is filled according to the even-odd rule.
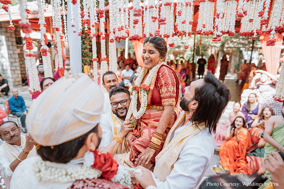
[[[99,145],[99,150],[102,151],[109,143],[112,141],[114,135],[116,135],[121,128],[123,120],[118,118],[115,114],[113,116],[116,118],[117,122],[113,121],[111,111],[107,114],[103,114],[100,121],[100,127],[102,129],[102,140]],[[120,123],[120,124],[119,124]]]

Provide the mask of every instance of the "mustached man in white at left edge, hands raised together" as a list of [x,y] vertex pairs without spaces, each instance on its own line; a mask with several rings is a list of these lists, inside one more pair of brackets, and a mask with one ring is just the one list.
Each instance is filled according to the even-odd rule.
[[0,138],[4,141],[0,146],[0,175],[4,178],[6,189],[9,189],[12,174],[19,163],[36,156],[37,152],[31,135],[21,135],[15,122],[6,121],[0,125]]

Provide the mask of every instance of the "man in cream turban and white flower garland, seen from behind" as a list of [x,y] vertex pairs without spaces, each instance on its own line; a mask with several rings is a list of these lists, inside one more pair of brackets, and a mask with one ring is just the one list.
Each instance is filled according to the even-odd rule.
[[61,78],[42,92],[26,118],[40,157],[17,166],[10,188],[127,188],[118,184],[120,167],[112,155],[96,150],[103,102],[100,88],[85,74]]

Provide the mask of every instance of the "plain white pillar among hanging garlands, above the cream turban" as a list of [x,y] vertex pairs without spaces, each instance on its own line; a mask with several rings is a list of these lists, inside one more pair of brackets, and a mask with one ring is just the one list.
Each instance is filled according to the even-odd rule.
[[81,53],[81,36],[78,36],[78,19],[77,4],[74,7],[75,31],[71,27],[71,5],[70,0],[67,1],[67,36],[70,54],[70,70],[71,74],[82,73],[82,53]]

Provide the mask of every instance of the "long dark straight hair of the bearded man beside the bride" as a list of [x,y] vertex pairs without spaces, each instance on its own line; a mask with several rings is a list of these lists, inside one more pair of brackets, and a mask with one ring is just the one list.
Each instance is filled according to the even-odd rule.
[[210,71],[203,79],[204,84],[195,88],[193,100],[198,102],[198,106],[190,121],[197,125],[204,122],[209,132],[215,133],[217,123],[231,99],[231,92]]

